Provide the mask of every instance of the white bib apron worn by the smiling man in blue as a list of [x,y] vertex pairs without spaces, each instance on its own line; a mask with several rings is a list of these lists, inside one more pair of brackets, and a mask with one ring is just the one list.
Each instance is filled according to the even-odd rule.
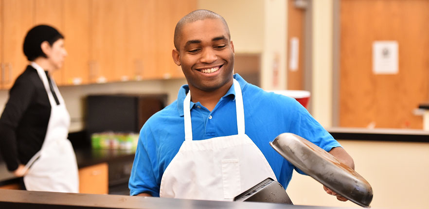
[[238,134],[205,140],[192,140],[188,92],[183,102],[185,141],[165,169],[160,196],[182,199],[232,199],[271,177],[276,180],[267,159],[245,134],[241,88],[234,79]]

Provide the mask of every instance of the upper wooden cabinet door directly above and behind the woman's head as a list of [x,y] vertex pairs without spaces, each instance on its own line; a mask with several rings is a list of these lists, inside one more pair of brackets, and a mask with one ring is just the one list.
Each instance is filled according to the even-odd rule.
[[[18,0],[23,1],[25,0]],[[62,35],[63,32],[63,1],[62,0],[35,0],[34,24],[45,24],[54,27]],[[66,48],[67,50],[67,48]],[[55,70],[52,74],[57,85],[63,85],[64,67]]]

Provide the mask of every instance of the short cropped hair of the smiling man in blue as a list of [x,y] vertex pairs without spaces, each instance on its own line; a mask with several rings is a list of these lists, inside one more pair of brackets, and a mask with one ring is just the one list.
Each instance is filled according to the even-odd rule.
[[228,33],[228,38],[231,39],[230,29],[228,28],[228,24],[222,16],[210,10],[198,9],[187,14],[185,17],[182,17],[177,23],[176,28],[174,30],[174,47],[177,50],[179,50],[179,39],[181,36],[181,30],[183,28],[183,25],[204,19],[220,19],[225,25],[225,29]]

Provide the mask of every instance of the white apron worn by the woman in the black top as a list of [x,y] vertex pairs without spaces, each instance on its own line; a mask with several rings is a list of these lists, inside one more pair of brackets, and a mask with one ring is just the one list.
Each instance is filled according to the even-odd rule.
[[36,63],[31,64],[37,70],[48,93],[51,103],[51,117],[42,148],[27,163],[28,173],[24,184],[29,191],[79,192],[79,178],[73,147],[67,139],[70,115],[64,100],[53,81],[53,88],[58,98],[56,104],[49,88],[44,70]]

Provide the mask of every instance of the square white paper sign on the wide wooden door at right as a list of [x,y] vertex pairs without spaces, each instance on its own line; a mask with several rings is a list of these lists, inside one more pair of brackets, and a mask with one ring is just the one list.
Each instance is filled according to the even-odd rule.
[[397,74],[398,73],[398,42],[374,41],[373,42],[373,73]]

